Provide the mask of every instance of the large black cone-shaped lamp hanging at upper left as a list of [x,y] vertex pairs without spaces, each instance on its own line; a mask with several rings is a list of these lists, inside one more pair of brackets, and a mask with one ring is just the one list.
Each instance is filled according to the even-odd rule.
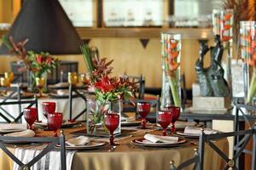
[[[26,50],[50,54],[80,54],[82,41],[57,0],[24,0],[7,36],[26,38]],[[2,44],[0,54],[9,54]]]

